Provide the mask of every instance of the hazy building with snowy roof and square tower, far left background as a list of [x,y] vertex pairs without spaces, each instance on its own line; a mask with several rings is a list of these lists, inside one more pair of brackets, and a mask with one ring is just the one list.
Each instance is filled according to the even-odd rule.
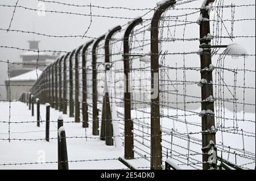
[[38,53],[39,42],[35,40],[28,41],[30,50],[20,55],[22,61],[10,64],[10,89],[9,79],[5,81],[7,100],[18,100],[22,92],[31,89],[37,77],[46,69],[47,65],[50,65],[56,60],[57,54]]

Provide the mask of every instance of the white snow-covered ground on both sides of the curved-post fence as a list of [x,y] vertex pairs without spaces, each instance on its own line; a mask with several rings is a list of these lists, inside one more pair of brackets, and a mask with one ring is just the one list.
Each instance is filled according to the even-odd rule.
[[[9,103],[0,102],[0,138],[8,139],[9,134],[9,124],[2,123],[2,121],[9,121]],[[41,118],[45,120],[46,107],[41,105]],[[122,108],[118,107],[119,112],[118,118],[122,118]],[[146,108],[144,111],[150,111]],[[165,112],[166,115],[175,115],[176,111],[166,110],[170,112]],[[197,112],[199,110],[196,110]],[[121,113],[120,113],[121,112]],[[36,117],[31,116],[31,111],[24,103],[12,102],[11,103],[11,117],[10,121],[17,121],[18,123],[22,121],[35,121]],[[51,124],[50,124],[50,138],[57,137],[57,117],[61,113],[54,109],[51,109]],[[181,112],[179,112],[181,114]],[[36,111],[35,111],[36,115]],[[150,117],[149,114],[139,112],[139,110],[132,112],[133,118],[137,117]],[[226,111],[226,116],[232,117],[232,112]],[[241,116],[238,113],[238,118]],[[179,118],[180,121],[174,121],[172,119],[164,118],[162,119],[162,131],[163,131],[163,161],[165,161],[168,153],[170,157],[171,152],[171,128],[175,127],[174,137],[172,139],[172,158],[174,162],[178,164],[183,169],[201,169],[201,163],[197,165],[192,165],[192,163],[201,161],[201,134],[192,134],[189,138],[188,147],[188,137],[187,127],[184,122],[182,122],[182,117]],[[246,113],[245,119],[255,121],[255,113]],[[85,129],[82,128],[81,123],[65,123],[67,121],[74,121],[73,118],[64,115],[64,127],[67,137],[88,137],[86,141],[85,138],[68,138],[68,159],[69,161],[82,161],[82,162],[70,162],[69,169],[127,169],[121,162],[119,162],[118,157],[123,157],[123,147],[116,146],[106,146],[104,141],[100,141],[98,136],[92,135],[92,127]],[[123,132],[123,121],[119,121],[119,131]],[[148,157],[150,157],[150,129],[148,125],[150,119],[134,120],[134,150],[135,157],[144,157],[147,159],[139,158],[130,160],[135,167],[144,167],[144,169],[149,169],[150,162]],[[187,123],[192,123],[193,126],[188,124],[188,132],[200,132],[200,119],[197,115],[188,116]],[[228,122],[226,123],[228,124]],[[233,122],[230,122],[233,125]],[[232,133],[222,133],[217,132],[217,144],[218,150],[224,150],[224,158],[228,157],[227,146],[230,146],[230,153],[236,150],[237,164],[242,165],[249,162],[254,162],[250,165],[246,165],[250,169],[255,167],[255,123],[239,123],[239,127],[243,128],[248,132],[254,133],[254,137],[244,137],[244,144],[246,150],[246,158],[243,156],[243,142],[242,136],[240,134]],[[181,134],[182,133],[182,134]],[[142,136],[142,137],[141,137]],[[20,123],[20,124],[10,124],[10,138],[24,138],[24,139],[41,139],[45,137],[45,124],[42,123],[41,127],[36,127],[36,123]],[[225,148],[222,148],[221,141],[224,138]],[[123,139],[121,139],[122,141]],[[122,141],[123,142],[123,141]],[[189,148],[189,149],[188,149]],[[234,149],[233,149],[234,148]],[[189,152],[188,152],[189,151]],[[188,157],[189,155],[189,157]],[[247,158],[247,155],[250,158]],[[88,159],[112,159],[107,161],[86,161]],[[229,160],[235,162],[233,154],[230,154]],[[39,141],[19,141],[19,140],[0,140],[0,169],[57,169],[57,163],[43,163],[43,164],[26,164],[26,165],[5,165],[4,163],[36,163],[36,162],[56,162],[57,161],[57,140],[52,139],[49,142],[45,140]],[[164,165],[164,164],[163,164]]]

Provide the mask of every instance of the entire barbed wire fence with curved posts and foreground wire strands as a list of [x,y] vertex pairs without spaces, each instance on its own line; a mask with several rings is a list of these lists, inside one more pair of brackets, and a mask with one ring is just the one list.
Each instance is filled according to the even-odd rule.
[[[127,162],[145,159],[150,165],[137,169],[166,169],[166,158],[182,169],[220,169],[222,163],[234,169],[254,169],[255,148],[247,149],[245,141],[246,145],[255,142],[255,129],[249,129],[255,128],[255,101],[251,99],[255,96],[255,83],[247,81],[247,77],[255,79],[255,68],[250,66],[255,62],[255,53],[242,51],[233,41],[255,41],[255,35],[236,31],[239,26],[255,23],[255,17],[248,18],[241,13],[236,16],[237,11],[255,10],[255,4],[230,5],[224,0],[208,0],[198,7],[198,0],[170,0],[159,2],[152,9],[130,9],[40,1],[89,7],[90,14],[47,12],[89,16],[90,24],[95,16],[130,22],[99,37],[86,35],[90,25],[84,35],[65,36],[13,30],[11,22],[9,28],[0,28],[52,38],[88,39],[70,52],[0,46],[36,52],[38,60],[40,53],[60,53],[51,65],[0,60],[8,65],[8,71],[10,65],[34,66],[36,71],[39,66],[44,68],[34,85],[11,85],[10,74],[9,81],[1,85],[10,90],[9,100],[1,100],[10,103],[9,120],[0,120],[1,124],[9,125],[9,137],[0,138],[1,141],[45,140],[11,137],[11,124],[46,122],[41,116],[40,120],[10,120],[11,103],[23,102],[31,107],[38,99],[41,104],[50,103],[55,110],[74,117],[74,121],[64,123],[82,123],[85,136],[67,139],[96,139],[105,141],[106,145],[119,142],[125,148],[123,159]],[[14,13],[18,8],[37,11],[18,5],[18,1],[15,6],[0,6],[14,8]],[[137,18],[105,16],[93,14],[92,7],[146,13]],[[11,100],[11,87],[15,86],[31,89],[23,92],[19,100]],[[253,116],[247,113],[251,110]],[[97,137],[87,136],[88,128]],[[50,138],[55,139],[58,138]],[[236,144],[230,146],[232,140]],[[61,162],[106,160],[118,158]],[[34,164],[41,163],[0,163],[1,166]]]

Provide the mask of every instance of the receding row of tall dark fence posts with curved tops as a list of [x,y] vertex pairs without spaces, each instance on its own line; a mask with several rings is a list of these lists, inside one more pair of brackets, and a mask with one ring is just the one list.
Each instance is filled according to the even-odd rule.
[[[209,3],[213,3],[214,0],[207,0],[204,4],[205,7]],[[151,91],[154,89],[158,91],[156,98],[151,99],[151,169],[162,169],[162,132],[160,129],[160,107],[159,107],[159,20],[164,11],[175,5],[175,0],[166,1],[160,5],[154,13],[151,20]],[[209,19],[208,10],[206,8],[201,9],[200,15],[205,19]],[[129,85],[130,72],[129,62],[130,57],[133,54],[129,54],[129,36],[133,28],[139,23],[142,23],[142,18],[135,19],[129,24],[125,30],[123,38],[123,62],[124,62],[124,74],[126,75],[125,85]],[[200,44],[210,43],[209,39],[206,39],[208,33],[210,33],[209,21],[203,21],[200,23]],[[68,102],[69,102],[69,117],[75,117],[75,122],[80,122],[80,102],[79,102],[79,54],[82,54],[82,127],[88,128],[88,103],[87,103],[87,85],[86,85],[86,56],[85,53],[88,47],[93,44],[92,48],[92,107],[93,107],[93,135],[99,135],[99,120],[98,120],[98,95],[97,95],[97,57],[96,48],[100,41],[105,39],[105,71],[106,73],[110,69],[110,52],[109,41],[115,32],[121,30],[120,26],[113,28],[109,31],[108,35],[100,36],[95,41],[91,40],[88,43],[81,45],[79,48],[69,52],[60,58],[56,62],[49,65],[46,70],[40,75],[38,81],[32,87],[31,92],[35,95],[34,98],[40,98],[40,103],[51,103],[51,107],[67,114]],[[73,100],[73,62],[72,58],[75,56],[75,105]],[[211,50],[204,48],[203,53],[200,55],[201,69],[209,68],[211,64]],[[67,61],[69,64],[69,77],[67,77]],[[59,69],[58,69],[59,68]],[[156,77],[155,77],[156,76]],[[212,81],[212,71],[201,71],[201,78]],[[62,79],[63,84],[62,84]],[[69,80],[69,99],[67,98],[67,81]],[[157,82],[157,87],[154,87],[154,83]],[[59,87],[59,92],[57,91]],[[63,89],[61,89],[63,87]],[[133,120],[131,119],[131,94],[128,90],[128,86],[124,90],[124,120],[125,120],[125,159],[134,158],[134,139],[133,139]],[[202,86],[202,100],[206,100],[209,96],[213,95],[213,86],[208,83]],[[154,93],[154,92],[152,92]],[[105,140],[106,145],[113,145],[113,126],[112,126],[112,111],[110,109],[108,92],[104,95],[104,104],[102,106],[102,121],[101,121],[101,140]],[[75,116],[74,116],[75,106]],[[214,111],[213,102],[201,103],[202,110]],[[38,118],[39,120],[39,118]],[[202,117],[202,130],[208,131],[214,126],[214,116],[204,115]],[[216,169],[217,164],[209,164],[207,154],[210,151],[209,146],[212,142],[216,142],[215,133],[207,132],[202,136],[203,140],[203,169]],[[217,151],[217,150],[216,150]]]

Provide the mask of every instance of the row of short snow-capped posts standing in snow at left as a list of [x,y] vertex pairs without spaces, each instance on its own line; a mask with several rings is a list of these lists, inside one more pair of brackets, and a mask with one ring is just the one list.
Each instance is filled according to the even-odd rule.
[[[36,125],[40,127],[40,99],[34,99],[34,95],[31,92],[23,92],[20,101],[24,102],[28,106],[28,110],[31,110],[31,116],[34,116],[34,104],[36,103]],[[51,105],[46,103],[46,141],[49,142],[49,127],[50,127],[50,108]],[[58,151],[58,169],[68,170],[68,153],[65,129],[63,127],[63,116],[59,116],[57,120],[57,151]]]

